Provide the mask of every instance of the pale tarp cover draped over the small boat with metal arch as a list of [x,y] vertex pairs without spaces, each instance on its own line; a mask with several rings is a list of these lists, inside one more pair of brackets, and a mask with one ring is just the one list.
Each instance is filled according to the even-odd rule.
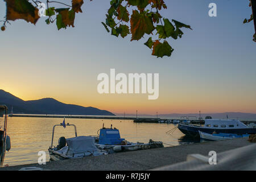
[[94,152],[98,148],[95,146],[94,137],[74,137],[67,139],[68,152],[67,154],[79,154],[84,152]]

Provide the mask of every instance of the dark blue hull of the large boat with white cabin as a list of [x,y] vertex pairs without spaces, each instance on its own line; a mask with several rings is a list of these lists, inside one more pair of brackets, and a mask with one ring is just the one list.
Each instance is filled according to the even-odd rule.
[[204,133],[212,134],[214,131],[216,133],[227,133],[227,134],[256,134],[256,128],[245,128],[245,129],[207,129],[200,126],[193,126],[193,125],[184,125],[179,124],[178,129],[184,133],[185,135],[191,137],[200,137],[199,131]]

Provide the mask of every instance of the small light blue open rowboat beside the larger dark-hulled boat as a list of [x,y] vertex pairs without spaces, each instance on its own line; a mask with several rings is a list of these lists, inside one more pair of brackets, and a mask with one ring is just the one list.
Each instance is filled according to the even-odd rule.
[[228,133],[204,133],[202,131],[199,131],[200,138],[201,139],[207,139],[207,140],[226,140],[226,139],[233,139],[233,138],[242,138],[242,137],[249,137],[247,134],[243,135],[237,135],[237,134],[228,134]]

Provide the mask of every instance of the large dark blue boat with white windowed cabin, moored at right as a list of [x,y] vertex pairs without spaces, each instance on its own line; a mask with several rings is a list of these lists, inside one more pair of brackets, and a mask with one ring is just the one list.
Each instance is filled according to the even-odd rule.
[[185,135],[200,137],[199,131],[212,134],[256,134],[256,128],[248,127],[237,119],[205,119],[204,126],[192,125],[191,123],[179,123],[178,129]]

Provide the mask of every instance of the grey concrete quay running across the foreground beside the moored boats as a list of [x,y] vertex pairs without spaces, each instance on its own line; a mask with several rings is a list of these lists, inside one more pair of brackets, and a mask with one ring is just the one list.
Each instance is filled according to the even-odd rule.
[[183,146],[154,148],[119,152],[109,155],[89,156],[82,159],[68,159],[57,162],[47,162],[45,165],[27,164],[0,168],[2,171],[16,171],[24,167],[39,167],[50,171],[120,171],[149,170],[184,162],[189,154],[208,156],[209,151],[220,152],[248,146],[248,137],[222,141],[202,142]]

